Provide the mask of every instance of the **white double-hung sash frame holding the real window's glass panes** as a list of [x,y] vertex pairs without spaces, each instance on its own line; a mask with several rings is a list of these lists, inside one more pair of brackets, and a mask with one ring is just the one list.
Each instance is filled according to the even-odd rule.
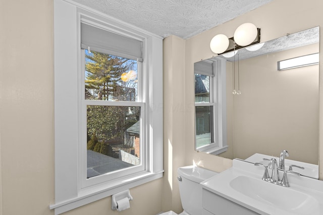
[[[92,19],[88,19],[89,17],[85,16],[84,14],[80,13],[80,22],[81,23],[86,23],[89,24],[93,27],[97,27],[97,28],[104,28],[106,26],[104,26],[103,23],[100,23],[100,25],[96,25],[98,23],[93,23],[93,21],[91,21]],[[109,31],[108,29],[106,29],[107,31]],[[116,32],[113,32],[116,33]],[[81,35],[82,36],[82,35]],[[130,37],[130,35],[127,35],[128,37]],[[133,35],[132,35],[133,36]],[[140,38],[134,38],[137,40],[141,40]],[[80,80],[80,83],[78,85],[78,101],[79,101],[79,105],[78,105],[78,118],[81,119],[81,127],[79,128],[79,130],[81,130],[81,132],[79,132],[79,140],[80,140],[80,147],[79,147],[79,183],[80,183],[80,187],[81,188],[86,188],[89,186],[93,186],[95,184],[100,184],[100,183],[104,183],[107,181],[113,181],[115,179],[119,179],[125,175],[129,175],[129,174],[134,174],[140,171],[144,171],[146,169],[145,167],[145,98],[146,95],[143,94],[143,89],[146,88],[146,83],[143,81],[145,78],[145,73],[144,73],[144,69],[143,69],[143,62],[140,62],[137,60],[137,71],[138,71],[138,88],[137,88],[137,92],[138,92],[138,98],[137,101],[133,101],[133,102],[127,102],[127,101],[101,101],[101,100],[87,100],[84,97],[84,92],[85,92],[85,84],[84,84],[84,80],[85,80],[85,51],[84,49],[80,49],[80,60],[79,60],[79,68],[80,69],[80,73],[78,73],[78,80]],[[109,54],[109,50],[104,50],[104,53]],[[122,53],[119,53],[119,55],[122,55]],[[126,56],[119,56],[119,57],[126,57]],[[86,126],[87,126],[87,118],[86,118],[86,114],[87,114],[87,110],[86,110],[86,106],[87,105],[102,105],[102,106],[136,106],[136,107],[140,107],[140,150],[143,151],[141,153],[141,157],[140,157],[140,164],[133,166],[133,167],[129,167],[126,169],[120,169],[118,171],[114,171],[114,172],[110,172],[110,173],[106,173],[106,174],[102,174],[100,176],[96,176],[96,177],[91,177],[91,178],[86,178],[87,172],[86,172],[86,167],[87,167],[87,145],[86,145],[86,141],[87,141],[87,130],[86,130]]]

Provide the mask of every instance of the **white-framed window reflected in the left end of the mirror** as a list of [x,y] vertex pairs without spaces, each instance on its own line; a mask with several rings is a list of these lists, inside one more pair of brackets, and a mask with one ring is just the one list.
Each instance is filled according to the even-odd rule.
[[194,63],[195,149],[220,154],[226,141],[225,61]]

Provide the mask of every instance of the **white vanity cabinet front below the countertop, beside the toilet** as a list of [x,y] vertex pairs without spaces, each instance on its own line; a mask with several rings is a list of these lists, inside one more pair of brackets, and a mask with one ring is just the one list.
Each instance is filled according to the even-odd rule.
[[[210,214],[214,215],[259,215],[259,213],[256,213],[204,188],[202,191],[202,206],[205,210],[210,212]],[[205,214],[209,213],[204,213],[204,215]]]

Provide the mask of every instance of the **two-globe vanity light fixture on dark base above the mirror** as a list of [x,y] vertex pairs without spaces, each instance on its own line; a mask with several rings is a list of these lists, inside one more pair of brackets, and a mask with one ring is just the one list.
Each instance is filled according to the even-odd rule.
[[[234,42],[234,48],[231,47],[232,43],[229,40]],[[252,23],[244,23],[235,30],[232,38],[228,38],[224,34],[214,36],[210,41],[210,49],[214,53],[221,54],[259,42],[260,29]]]

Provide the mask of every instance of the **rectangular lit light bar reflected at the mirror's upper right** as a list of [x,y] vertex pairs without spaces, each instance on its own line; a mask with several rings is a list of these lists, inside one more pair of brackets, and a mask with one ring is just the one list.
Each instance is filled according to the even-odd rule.
[[297,68],[307,65],[315,65],[319,62],[318,53],[308,54],[300,57],[294,57],[291,59],[281,60],[277,62],[278,70],[285,70],[290,68]]

